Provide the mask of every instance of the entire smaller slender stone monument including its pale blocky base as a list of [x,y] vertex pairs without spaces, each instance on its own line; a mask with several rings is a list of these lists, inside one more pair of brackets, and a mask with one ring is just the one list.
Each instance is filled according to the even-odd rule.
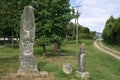
[[88,80],[89,73],[85,71],[85,44],[82,44],[80,47],[80,52],[78,55],[78,68],[79,70],[76,71],[76,77],[81,77],[81,80]]

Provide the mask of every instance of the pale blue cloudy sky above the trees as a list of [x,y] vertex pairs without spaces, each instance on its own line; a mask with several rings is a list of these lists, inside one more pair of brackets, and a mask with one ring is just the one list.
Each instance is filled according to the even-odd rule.
[[78,22],[91,31],[103,32],[106,20],[111,15],[120,17],[120,0],[70,0],[70,4],[72,7],[81,5]]

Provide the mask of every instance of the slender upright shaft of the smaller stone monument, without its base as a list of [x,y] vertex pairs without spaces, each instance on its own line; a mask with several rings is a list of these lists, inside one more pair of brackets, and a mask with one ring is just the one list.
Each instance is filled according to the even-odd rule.
[[80,72],[85,72],[85,44],[82,44],[80,47],[78,67]]

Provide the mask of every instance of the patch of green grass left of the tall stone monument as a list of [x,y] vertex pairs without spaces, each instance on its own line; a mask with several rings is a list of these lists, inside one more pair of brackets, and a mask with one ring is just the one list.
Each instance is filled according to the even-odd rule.
[[18,69],[18,49],[0,48],[0,75],[8,72],[16,72]]

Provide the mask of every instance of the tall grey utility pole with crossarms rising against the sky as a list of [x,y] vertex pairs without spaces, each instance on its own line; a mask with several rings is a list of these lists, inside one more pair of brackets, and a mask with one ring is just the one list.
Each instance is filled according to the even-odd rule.
[[75,6],[76,8],[76,18],[75,18],[75,26],[76,26],[76,44],[78,44],[78,18],[79,18],[79,8],[81,7],[80,6]]

